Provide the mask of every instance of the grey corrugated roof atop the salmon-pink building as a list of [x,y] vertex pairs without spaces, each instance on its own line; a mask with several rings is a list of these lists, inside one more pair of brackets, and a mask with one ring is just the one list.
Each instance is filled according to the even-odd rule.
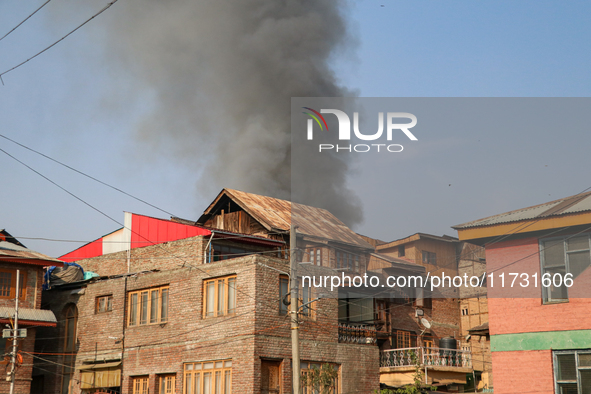
[[452,226],[456,230],[591,211],[591,192]]

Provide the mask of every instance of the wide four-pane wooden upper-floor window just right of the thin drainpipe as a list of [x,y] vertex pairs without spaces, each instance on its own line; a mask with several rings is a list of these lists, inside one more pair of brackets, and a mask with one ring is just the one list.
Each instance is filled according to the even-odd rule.
[[[156,300],[158,305],[156,306],[156,318],[152,316],[152,301],[153,292],[158,292]],[[143,296],[146,294],[146,306],[145,306],[145,320],[142,319],[142,312],[144,311]],[[162,313],[164,308],[162,307],[163,295],[166,294],[166,316]],[[135,297],[134,297],[135,296]],[[135,301],[135,302],[134,302]],[[135,303],[135,305],[134,305]],[[130,291],[127,293],[127,326],[138,327],[138,326],[149,326],[153,324],[164,324],[168,322],[168,305],[170,304],[170,287],[160,286],[151,287],[149,289],[142,289],[136,291]],[[133,313],[132,313],[133,311]],[[132,319],[132,317],[135,318]]]

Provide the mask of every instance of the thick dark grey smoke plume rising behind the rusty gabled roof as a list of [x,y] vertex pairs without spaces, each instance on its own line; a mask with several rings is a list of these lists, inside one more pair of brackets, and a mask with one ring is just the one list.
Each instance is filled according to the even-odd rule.
[[[291,97],[351,96],[329,67],[353,41],[339,0],[125,0],[107,48],[148,103],[137,137],[230,187],[290,199]],[[346,165],[323,165],[300,196],[349,225],[362,219]],[[197,176],[197,175],[196,175]]]

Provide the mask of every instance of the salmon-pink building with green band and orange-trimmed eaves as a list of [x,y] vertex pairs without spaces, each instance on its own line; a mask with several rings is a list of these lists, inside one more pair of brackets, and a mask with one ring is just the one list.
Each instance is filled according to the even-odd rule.
[[454,227],[486,249],[495,393],[590,392],[590,224],[582,193]]

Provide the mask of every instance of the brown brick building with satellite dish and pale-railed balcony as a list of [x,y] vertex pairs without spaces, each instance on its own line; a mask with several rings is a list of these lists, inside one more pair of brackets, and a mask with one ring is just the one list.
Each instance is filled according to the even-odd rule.
[[[404,266],[415,275],[422,273],[424,276],[458,275],[460,263],[463,269],[463,248],[467,247],[457,238],[425,233],[392,242],[374,242],[374,245],[376,253],[370,260],[371,269]],[[461,319],[460,304],[464,300],[460,290],[442,294],[412,288],[389,300],[386,305],[391,334],[382,346],[382,383],[394,387],[412,383],[415,365],[410,360],[413,354],[419,356],[421,367],[426,371],[426,382],[438,386],[439,390],[458,391],[473,379],[472,348],[462,335],[462,331],[465,329],[467,334],[471,326],[462,325],[468,322]],[[450,338],[456,350],[442,351],[439,347],[450,346]]]

